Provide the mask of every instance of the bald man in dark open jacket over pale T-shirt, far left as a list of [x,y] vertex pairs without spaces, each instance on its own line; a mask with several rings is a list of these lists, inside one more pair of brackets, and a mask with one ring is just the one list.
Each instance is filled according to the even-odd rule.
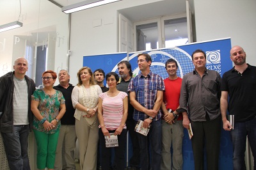
[[17,58],[13,72],[0,77],[0,127],[8,164],[28,170],[28,135],[32,127],[31,95],[35,82],[26,76],[28,61]]

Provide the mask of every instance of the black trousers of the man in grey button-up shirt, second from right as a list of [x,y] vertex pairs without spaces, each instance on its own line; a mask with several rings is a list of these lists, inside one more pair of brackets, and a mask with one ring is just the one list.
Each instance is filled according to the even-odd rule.
[[193,137],[192,149],[196,170],[204,170],[204,148],[206,149],[207,170],[219,169],[221,116],[206,121],[191,121]]

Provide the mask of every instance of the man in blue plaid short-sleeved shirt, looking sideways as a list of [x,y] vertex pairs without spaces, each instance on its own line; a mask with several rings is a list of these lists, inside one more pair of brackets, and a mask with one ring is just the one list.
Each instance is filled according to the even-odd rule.
[[[159,170],[162,148],[162,112],[160,107],[163,102],[164,81],[161,76],[150,71],[152,59],[148,54],[139,54],[137,63],[141,73],[134,77],[128,86],[130,102],[134,107],[133,119],[144,121],[143,127],[145,128],[150,125],[147,136],[137,134],[140,144],[141,170]],[[149,141],[152,148],[151,164],[148,162]]]

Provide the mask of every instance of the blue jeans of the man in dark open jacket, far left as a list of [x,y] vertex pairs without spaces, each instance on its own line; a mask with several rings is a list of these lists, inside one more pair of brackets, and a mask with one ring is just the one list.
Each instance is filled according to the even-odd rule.
[[10,169],[30,169],[28,159],[29,125],[13,126],[12,133],[1,132]]

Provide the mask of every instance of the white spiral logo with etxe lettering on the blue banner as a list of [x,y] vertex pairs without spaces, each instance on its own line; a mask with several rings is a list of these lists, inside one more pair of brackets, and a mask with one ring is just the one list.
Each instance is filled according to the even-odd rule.
[[221,57],[220,50],[206,51],[206,68],[215,70],[221,75]]

